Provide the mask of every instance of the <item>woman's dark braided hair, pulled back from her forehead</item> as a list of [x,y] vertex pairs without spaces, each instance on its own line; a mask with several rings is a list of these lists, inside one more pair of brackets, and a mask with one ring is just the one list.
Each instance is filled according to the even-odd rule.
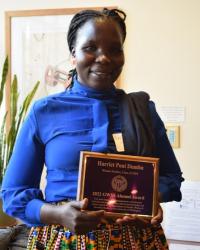
[[[67,33],[67,43],[69,51],[72,52],[77,38],[77,32],[80,27],[82,27],[87,21],[91,19],[111,19],[114,22],[116,22],[122,32],[123,35],[123,41],[126,38],[126,25],[125,25],[125,19],[126,14],[122,10],[118,9],[107,9],[104,8],[101,11],[97,10],[82,10],[75,14],[70,22],[68,33]],[[69,71],[69,79],[72,81],[74,75],[76,75],[76,69],[72,69]],[[70,86],[72,86],[72,82],[70,83]]]

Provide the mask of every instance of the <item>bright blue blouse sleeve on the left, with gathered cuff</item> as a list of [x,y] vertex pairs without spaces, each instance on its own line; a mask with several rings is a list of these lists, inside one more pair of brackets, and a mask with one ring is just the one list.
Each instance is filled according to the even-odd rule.
[[43,165],[44,146],[33,107],[17,137],[2,183],[4,211],[31,226],[41,225],[40,209],[44,201],[39,185]]

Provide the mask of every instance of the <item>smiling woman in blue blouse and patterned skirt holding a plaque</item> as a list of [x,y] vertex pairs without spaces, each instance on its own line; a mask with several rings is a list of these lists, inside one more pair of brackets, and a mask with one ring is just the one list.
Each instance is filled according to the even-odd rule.
[[[114,86],[124,65],[125,17],[115,9],[73,17],[72,82],[37,101],[18,136],[2,194],[8,214],[41,226],[32,228],[28,249],[167,249],[160,206],[150,222],[124,216],[103,224],[104,211],[86,212],[88,200],[75,201],[80,151],[118,153],[115,133],[123,138],[120,153],[160,158],[159,201],[181,199],[181,171],[153,102],[145,93],[130,99]],[[39,189],[44,164],[45,197]]]

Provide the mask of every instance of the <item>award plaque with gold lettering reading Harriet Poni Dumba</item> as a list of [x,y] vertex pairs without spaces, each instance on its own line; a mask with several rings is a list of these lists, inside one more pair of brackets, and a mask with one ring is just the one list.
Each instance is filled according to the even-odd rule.
[[158,158],[82,151],[77,199],[108,216],[157,212]]

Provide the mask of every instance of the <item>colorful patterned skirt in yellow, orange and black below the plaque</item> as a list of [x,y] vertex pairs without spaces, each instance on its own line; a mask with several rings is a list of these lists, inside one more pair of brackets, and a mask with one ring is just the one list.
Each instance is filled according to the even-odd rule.
[[166,250],[168,244],[162,227],[148,225],[101,225],[84,235],[75,235],[62,226],[33,227],[28,250]]

